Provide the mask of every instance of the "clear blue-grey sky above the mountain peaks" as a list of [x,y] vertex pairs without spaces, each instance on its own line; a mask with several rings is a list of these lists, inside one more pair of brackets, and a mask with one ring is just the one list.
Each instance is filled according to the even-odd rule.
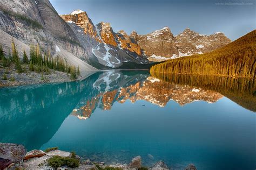
[[87,12],[93,24],[109,22],[117,32],[147,34],[169,26],[200,34],[223,32],[231,40],[256,29],[256,0],[50,0],[59,14]]

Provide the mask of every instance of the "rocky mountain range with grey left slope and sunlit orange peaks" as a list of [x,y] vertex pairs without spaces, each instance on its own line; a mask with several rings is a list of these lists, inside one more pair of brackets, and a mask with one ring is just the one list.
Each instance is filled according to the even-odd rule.
[[14,38],[22,58],[31,44],[51,49],[82,71],[151,65],[156,61],[203,54],[231,42],[224,33],[210,36],[190,29],[174,36],[169,27],[140,35],[114,32],[110,23],[93,24],[82,10],[59,15],[48,0],[3,0],[0,2],[0,37],[5,52]]

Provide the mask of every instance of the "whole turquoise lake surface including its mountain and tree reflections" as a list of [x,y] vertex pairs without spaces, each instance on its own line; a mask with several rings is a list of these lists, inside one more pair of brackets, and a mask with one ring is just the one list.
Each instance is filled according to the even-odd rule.
[[84,159],[184,169],[256,168],[255,80],[96,72],[0,89],[0,142]]

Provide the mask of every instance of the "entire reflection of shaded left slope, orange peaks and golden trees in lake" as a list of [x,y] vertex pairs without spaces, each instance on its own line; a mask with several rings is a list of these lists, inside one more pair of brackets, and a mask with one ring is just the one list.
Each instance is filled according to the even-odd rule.
[[96,108],[110,110],[114,102],[126,100],[145,100],[164,107],[170,100],[180,105],[198,100],[214,103],[225,95],[245,108],[256,110],[254,81],[159,79],[149,76],[149,72],[112,70],[97,72],[80,82],[2,88],[0,142],[20,143],[28,150],[40,148],[70,113],[86,119]]

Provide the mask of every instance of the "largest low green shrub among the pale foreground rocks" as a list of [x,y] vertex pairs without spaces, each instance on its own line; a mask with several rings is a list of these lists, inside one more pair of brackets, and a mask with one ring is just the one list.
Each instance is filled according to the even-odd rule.
[[48,165],[53,168],[62,167],[64,165],[70,168],[76,168],[79,166],[79,160],[75,158],[68,158],[68,157],[60,157],[60,156],[53,156],[52,158],[47,160]]

